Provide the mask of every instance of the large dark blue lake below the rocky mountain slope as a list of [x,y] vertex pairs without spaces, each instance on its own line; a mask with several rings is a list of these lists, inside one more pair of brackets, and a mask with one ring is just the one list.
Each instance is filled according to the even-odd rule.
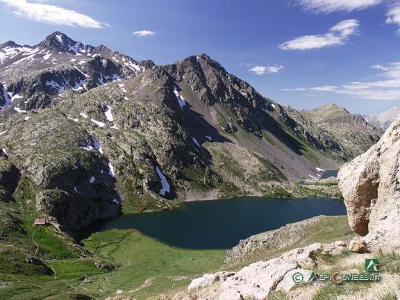
[[346,208],[343,201],[324,198],[194,201],[182,203],[179,210],[103,219],[85,232],[134,228],[174,247],[227,249],[250,235],[317,215],[346,215]]

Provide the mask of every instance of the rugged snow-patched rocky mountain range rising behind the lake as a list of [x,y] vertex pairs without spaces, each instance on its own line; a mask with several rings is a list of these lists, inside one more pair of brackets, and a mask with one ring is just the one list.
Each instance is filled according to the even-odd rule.
[[304,197],[294,181],[382,134],[333,105],[280,106],[206,54],[159,66],[60,32],[1,44],[0,82],[2,200],[69,232],[192,199]]

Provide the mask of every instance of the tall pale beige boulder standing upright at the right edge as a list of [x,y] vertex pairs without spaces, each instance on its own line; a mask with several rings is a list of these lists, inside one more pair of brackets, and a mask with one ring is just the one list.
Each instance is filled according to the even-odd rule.
[[[381,140],[338,174],[349,224],[364,251],[400,249],[400,117]],[[361,249],[363,247],[354,247]]]

